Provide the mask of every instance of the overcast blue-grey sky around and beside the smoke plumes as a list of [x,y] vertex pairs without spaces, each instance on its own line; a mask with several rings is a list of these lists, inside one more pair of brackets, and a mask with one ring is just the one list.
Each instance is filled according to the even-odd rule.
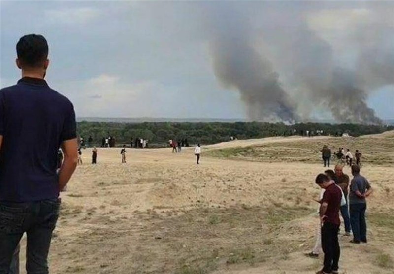
[[[235,10],[251,19],[253,28],[263,24],[259,10],[268,9],[273,17],[296,10],[332,45],[339,62],[356,65],[353,48],[344,41],[352,26],[370,22],[371,1],[272,2],[239,1]],[[394,2],[372,2],[384,7],[382,24],[394,28],[387,17],[394,14]],[[20,78],[18,39],[37,33],[50,47],[47,81],[70,98],[78,117],[247,118],[239,93],[215,76],[203,22],[210,5],[215,2],[0,0],[0,88]],[[394,33],[389,35],[394,52]],[[289,90],[296,89],[280,77]],[[368,106],[380,118],[394,118],[393,82],[369,89]],[[329,116],[312,108],[312,117]]]

